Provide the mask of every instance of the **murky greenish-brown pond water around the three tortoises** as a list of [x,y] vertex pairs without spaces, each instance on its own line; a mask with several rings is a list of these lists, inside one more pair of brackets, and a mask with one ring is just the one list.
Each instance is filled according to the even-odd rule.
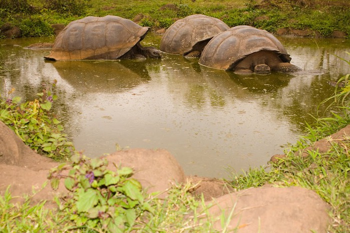
[[[144,45],[159,47],[161,35]],[[336,81],[350,73],[350,40],[278,37],[303,69],[239,76],[163,54],[161,59],[45,61],[29,50],[54,38],[0,40],[0,93],[33,99],[57,80],[54,111],[78,150],[90,157],[120,148],[164,148],[186,174],[228,177],[266,165],[320,115]],[[329,112],[328,112],[329,113]]]

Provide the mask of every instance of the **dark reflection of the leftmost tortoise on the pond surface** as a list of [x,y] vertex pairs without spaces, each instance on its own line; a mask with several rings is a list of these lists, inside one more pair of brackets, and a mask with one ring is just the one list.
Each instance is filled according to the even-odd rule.
[[125,62],[125,65],[118,60],[49,62],[63,79],[81,92],[122,91],[151,79],[144,63],[141,62],[129,61]]

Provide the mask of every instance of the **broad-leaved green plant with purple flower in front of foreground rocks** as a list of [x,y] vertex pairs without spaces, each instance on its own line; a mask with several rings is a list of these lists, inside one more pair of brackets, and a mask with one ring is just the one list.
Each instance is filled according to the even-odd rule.
[[[140,216],[153,208],[142,192],[133,170],[118,167],[108,170],[107,159],[89,159],[81,153],[50,171],[49,179],[57,189],[61,178],[70,192],[57,199],[60,209],[70,216],[77,228],[99,229],[101,232],[124,232],[135,227]],[[66,174],[63,172],[69,169]]]

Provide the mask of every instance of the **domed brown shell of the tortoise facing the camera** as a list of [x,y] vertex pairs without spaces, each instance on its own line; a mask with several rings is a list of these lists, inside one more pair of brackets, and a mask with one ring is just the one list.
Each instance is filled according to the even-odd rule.
[[203,49],[199,63],[218,69],[234,69],[244,57],[261,50],[275,51],[283,62],[291,60],[284,46],[271,33],[240,25],[214,36]]

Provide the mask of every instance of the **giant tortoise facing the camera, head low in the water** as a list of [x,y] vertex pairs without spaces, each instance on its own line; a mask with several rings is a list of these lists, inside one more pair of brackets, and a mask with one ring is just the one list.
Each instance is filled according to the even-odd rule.
[[271,71],[301,70],[290,63],[281,42],[266,30],[235,26],[214,36],[205,46],[199,63],[234,70],[237,74],[269,74]]

